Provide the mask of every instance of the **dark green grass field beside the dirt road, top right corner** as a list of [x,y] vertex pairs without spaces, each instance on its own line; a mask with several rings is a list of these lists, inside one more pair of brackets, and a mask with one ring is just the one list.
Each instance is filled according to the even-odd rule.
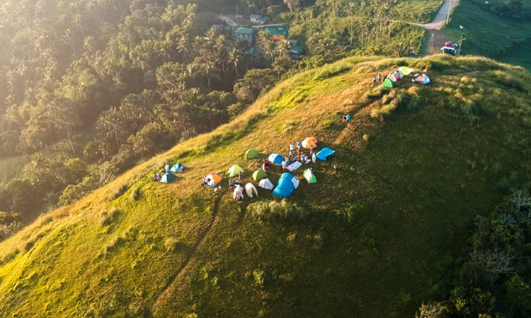
[[[486,3],[488,2],[488,3]],[[469,55],[483,55],[500,61],[531,68],[531,23],[498,16],[491,9],[500,0],[461,0],[452,13],[450,25],[442,30],[447,40],[459,40],[464,35],[462,49]],[[531,12],[529,1],[523,1],[523,11]],[[463,30],[459,28],[463,27]]]

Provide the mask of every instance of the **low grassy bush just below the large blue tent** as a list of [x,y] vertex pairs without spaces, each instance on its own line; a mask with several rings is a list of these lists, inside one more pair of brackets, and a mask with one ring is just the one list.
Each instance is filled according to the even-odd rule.
[[247,209],[251,212],[253,218],[269,222],[295,218],[302,219],[308,216],[307,211],[304,211],[304,209],[299,208],[295,204],[289,203],[286,199],[280,202],[256,202],[250,204]]

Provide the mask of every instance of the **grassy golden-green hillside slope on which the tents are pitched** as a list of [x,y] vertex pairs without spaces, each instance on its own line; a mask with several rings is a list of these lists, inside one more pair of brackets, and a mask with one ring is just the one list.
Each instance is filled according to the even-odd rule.
[[[372,86],[374,73],[404,65],[433,82]],[[412,317],[447,292],[466,225],[508,187],[530,185],[527,83],[518,67],[445,56],[301,73],[2,242],[0,316]],[[249,182],[258,161],[247,149],[285,154],[307,136],[336,156],[285,201],[258,189],[238,204],[227,179],[217,194],[199,187],[236,163]],[[189,169],[152,182],[166,160]],[[272,201],[270,213],[289,216],[257,216]]]

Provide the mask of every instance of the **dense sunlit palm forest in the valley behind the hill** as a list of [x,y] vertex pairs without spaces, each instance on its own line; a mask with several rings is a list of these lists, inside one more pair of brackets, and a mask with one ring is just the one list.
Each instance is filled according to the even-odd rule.
[[[12,164],[0,178],[0,211],[28,223],[70,204],[139,160],[228,122],[298,71],[355,54],[414,54],[423,30],[389,19],[429,20],[439,5],[2,1],[0,158]],[[215,12],[236,10],[290,23],[305,56],[290,59],[290,44],[264,31],[258,54],[247,54],[247,42],[211,28],[222,23]]]

